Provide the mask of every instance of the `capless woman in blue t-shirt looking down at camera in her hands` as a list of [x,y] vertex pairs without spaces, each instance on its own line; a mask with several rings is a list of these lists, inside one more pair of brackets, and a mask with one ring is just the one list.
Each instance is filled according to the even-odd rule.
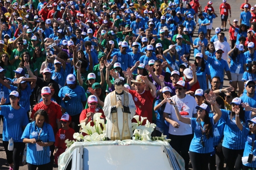
[[28,170],[52,169],[50,162],[50,147],[55,142],[52,126],[48,124],[49,117],[45,110],[38,110],[21,136],[27,145]]

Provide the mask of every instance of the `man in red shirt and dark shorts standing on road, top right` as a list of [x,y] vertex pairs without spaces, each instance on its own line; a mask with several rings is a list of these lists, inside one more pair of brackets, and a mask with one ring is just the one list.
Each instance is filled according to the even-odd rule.
[[231,8],[230,5],[226,3],[226,0],[222,0],[222,4],[220,4],[220,17],[221,17],[221,30],[226,31],[227,18],[228,13],[230,13],[231,18]]

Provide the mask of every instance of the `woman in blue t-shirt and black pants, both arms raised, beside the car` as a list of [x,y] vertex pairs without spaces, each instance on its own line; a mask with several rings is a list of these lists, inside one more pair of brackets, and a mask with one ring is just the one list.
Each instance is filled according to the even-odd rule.
[[220,119],[222,112],[216,105],[216,95],[211,91],[205,94],[206,101],[215,109],[215,115],[209,117],[210,108],[207,104],[196,106],[197,118],[181,117],[175,101],[168,100],[174,106],[179,121],[191,124],[194,129],[194,137],[190,143],[189,156],[193,170],[206,170],[208,168],[211,152],[213,152],[213,131]]

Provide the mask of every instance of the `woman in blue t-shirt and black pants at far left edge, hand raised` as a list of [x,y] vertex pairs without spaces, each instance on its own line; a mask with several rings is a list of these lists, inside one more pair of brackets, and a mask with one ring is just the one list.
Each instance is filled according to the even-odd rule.
[[[10,105],[2,106],[6,102],[4,97],[2,97],[0,103],[0,115],[4,116],[3,145],[10,169],[18,170],[20,167],[20,152],[25,145],[22,143],[21,136],[29,120],[25,109],[19,104],[19,93],[12,91],[9,99],[11,101]],[[8,145],[11,139],[13,140],[13,150],[9,151]]]

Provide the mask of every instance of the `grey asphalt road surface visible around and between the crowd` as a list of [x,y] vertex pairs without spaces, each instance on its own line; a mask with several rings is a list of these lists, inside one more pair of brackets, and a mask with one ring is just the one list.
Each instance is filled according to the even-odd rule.
[[[213,7],[215,9],[215,13],[219,15],[219,10],[218,10],[218,7],[219,5],[222,3],[222,0],[211,0],[213,2]],[[200,4],[202,5],[202,8],[204,8],[206,5],[207,5],[207,0],[199,0]],[[240,18],[240,5],[243,3],[244,1],[243,0],[227,0],[227,3],[229,3],[231,5],[231,14],[232,14],[232,17],[229,18],[231,22],[233,22],[233,19],[238,19],[239,21],[239,18]],[[255,2],[256,3],[256,2]],[[251,4],[252,6],[254,4]],[[220,27],[221,26],[221,21],[220,21],[220,17],[214,19],[213,21],[213,28],[216,28],[216,27]],[[226,29],[229,28],[229,27],[226,27]],[[198,29],[196,29],[197,31]],[[225,33],[225,36],[227,37],[228,39],[228,30]],[[211,32],[212,36],[215,34],[215,30],[212,30]],[[196,33],[194,34],[196,35]],[[193,40],[196,38],[197,36],[193,37]],[[230,42],[228,41],[228,43],[230,44]],[[231,44],[230,44],[231,45]],[[193,54],[192,54],[193,56]],[[190,57],[193,59],[193,57]],[[224,81],[224,86],[228,86],[228,81],[227,81],[227,76],[225,76],[225,81]],[[3,144],[2,144],[2,131],[3,131],[3,125],[1,123],[0,125],[0,169],[1,170],[9,170],[9,165],[6,161],[6,155],[5,155],[5,151],[4,151],[4,147],[3,147]],[[22,165],[22,164],[21,164]],[[24,165],[24,166],[20,166],[20,170],[27,170],[27,165]],[[54,168],[54,170],[57,170],[57,168]]]

